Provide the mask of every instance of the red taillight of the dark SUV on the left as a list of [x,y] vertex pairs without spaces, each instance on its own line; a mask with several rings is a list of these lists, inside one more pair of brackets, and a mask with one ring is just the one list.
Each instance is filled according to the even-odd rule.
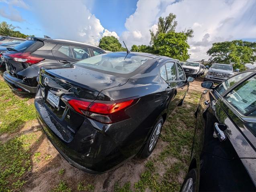
[[8,53],[6,55],[8,55],[8,57],[12,57],[14,61],[29,63],[29,64],[36,64],[44,60],[44,58],[41,58],[41,57],[34,57],[33,55],[31,55],[30,52],[12,53],[12,54]]

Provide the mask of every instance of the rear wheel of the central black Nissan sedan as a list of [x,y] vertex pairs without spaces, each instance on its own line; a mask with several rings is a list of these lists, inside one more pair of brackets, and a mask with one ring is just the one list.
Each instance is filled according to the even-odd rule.
[[147,158],[148,156],[150,156],[150,154],[152,154],[154,148],[156,147],[156,143],[159,139],[163,124],[164,119],[163,117],[160,117],[156,124],[154,125],[152,133],[150,134],[150,137],[148,137],[147,142],[141,148],[141,152],[139,152],[138,154],[139,158]]

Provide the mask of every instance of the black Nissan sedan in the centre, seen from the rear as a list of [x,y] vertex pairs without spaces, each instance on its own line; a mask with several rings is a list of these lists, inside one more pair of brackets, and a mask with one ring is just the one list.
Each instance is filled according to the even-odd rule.
[[49,140],[70,164],[97,174],[149,156],[193,78],[169,57],[116,52],[42,68],[38,81],[35,107]]

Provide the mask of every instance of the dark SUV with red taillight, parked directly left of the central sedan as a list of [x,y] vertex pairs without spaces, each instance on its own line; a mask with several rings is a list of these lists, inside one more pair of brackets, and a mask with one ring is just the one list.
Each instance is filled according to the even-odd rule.
[[104,50],[81,42],[29,37],[2,53],[6,64],[4,80],[15,91],[36,93],[41,67],[60,67],[105,53]]

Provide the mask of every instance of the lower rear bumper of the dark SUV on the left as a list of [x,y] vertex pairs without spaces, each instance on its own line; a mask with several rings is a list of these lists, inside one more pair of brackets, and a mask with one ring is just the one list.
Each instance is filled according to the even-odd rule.
[[[37,87],[30,87],[22,79],[12,77],[7,71],[3,75],[4,81],[15,91],[24,93],[36,93]],[[21,90],[20,90],[21,89]]]

